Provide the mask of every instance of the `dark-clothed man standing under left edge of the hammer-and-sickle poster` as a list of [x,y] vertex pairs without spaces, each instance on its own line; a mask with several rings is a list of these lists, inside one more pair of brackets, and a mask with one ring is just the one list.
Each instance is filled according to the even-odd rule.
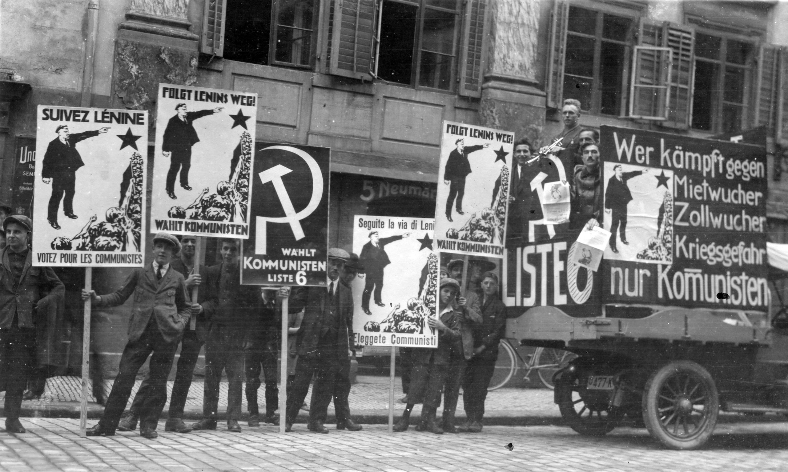
[[[192,429],[216,429],[221,372],[227,372],[227,430],[240,433],[238,420],[243,401],[244,351],[253,343],[259,288],[240,284],[239,241],[221,241],[221,263],[205,270],[200,302],[192,305],[195,314],[204,314],[208,323],[205,340],[205,388],[203,419]],[[203,295],[204,294],[204,295]]]

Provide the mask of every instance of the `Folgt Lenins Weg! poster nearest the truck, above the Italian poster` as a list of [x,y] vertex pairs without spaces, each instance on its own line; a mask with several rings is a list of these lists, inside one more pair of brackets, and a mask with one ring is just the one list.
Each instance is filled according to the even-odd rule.
[[440,251],[504,257],[515,135],[443,122],[435,235]]

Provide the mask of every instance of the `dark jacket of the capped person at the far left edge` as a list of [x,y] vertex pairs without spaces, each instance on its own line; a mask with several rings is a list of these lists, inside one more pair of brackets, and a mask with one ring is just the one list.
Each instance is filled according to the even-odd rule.
[[50,306],[62,306],[63,283],[50,267],[33,267],[33,251],[28,251],[19,285],[13,277],[8,251],[0,251],[0,329],[9,329],[13,315],[22,328],[46,321]]

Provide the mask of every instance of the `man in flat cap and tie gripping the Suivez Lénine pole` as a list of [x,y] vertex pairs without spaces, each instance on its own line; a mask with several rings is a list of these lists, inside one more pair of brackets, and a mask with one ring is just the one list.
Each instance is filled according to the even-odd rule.
[[116,292],[96,295],[82,291],[82,299],[92,299],[97,307],[117,307],[134,295],[132,317],[128,321],[128,344],[121,355],[121,365],[106,400],[99,424],[87,429],[87,436],[113,436],[137,371],[151,355],[148,377],[150,387],[139,411],[139,434],[148,439],[158,437],[156,426],[167,402],[167,376],[173,366],[175,351],[191,317],[184,276],[172,269],[170,262],[180,252],[180,242],[166,232],[153,239],[151,264],[135,269]]

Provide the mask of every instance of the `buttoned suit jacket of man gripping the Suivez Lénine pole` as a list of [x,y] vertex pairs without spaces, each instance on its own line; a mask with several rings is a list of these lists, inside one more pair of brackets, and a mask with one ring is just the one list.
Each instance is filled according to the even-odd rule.
[[157,281],[153,263],[139,267],[128,274],[116,292],[102,295],[99,307],[122,305],[132,293],[134,305],[128,320],[128,341],[139,340],[154,317],[162,338],[168,343],[177,342],[191,316],[184,276],[170,266],[162,280]]

